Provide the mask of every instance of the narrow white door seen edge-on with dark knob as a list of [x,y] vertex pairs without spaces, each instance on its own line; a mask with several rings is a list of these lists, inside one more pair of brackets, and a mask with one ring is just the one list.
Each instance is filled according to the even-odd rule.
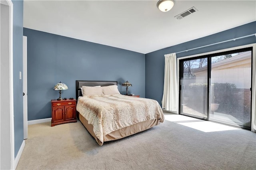
[[27,37],[23,36],[23,128],[24,139],[28,138],[28,94],[27,94]]

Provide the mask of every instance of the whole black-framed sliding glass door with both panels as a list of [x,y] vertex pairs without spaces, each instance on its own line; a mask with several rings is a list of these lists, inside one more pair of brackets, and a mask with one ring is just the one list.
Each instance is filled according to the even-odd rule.
[[181,59],[180,114],[251,127],[252,48]]

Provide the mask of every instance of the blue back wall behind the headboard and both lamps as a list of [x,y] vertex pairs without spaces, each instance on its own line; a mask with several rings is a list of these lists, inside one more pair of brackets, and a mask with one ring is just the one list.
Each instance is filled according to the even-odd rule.
[[62,82],[68,90],[62,98],[76,97],[76,80],[128,80],[128,93],[145,97],[145,54],[76,40],[24,28],[28,37],[28,121],[50,118],[51,99],[57,99],[53,87]]

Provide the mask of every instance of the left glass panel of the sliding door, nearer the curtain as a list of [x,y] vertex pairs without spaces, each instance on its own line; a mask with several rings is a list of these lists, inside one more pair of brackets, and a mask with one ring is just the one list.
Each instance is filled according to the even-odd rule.
[[[200,119],[208,117],[207,60],[207,58],[200,58],[180,63],[180,68],[182,68],[180,73],[180,110],[183,115]],[[196,71],[200,71],[200,73],[195,75]]]

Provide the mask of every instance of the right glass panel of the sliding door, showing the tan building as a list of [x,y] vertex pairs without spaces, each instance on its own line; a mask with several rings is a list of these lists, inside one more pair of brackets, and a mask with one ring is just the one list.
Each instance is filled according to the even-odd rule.
[[209,120],[251,126],[252,51],[211,57]]

